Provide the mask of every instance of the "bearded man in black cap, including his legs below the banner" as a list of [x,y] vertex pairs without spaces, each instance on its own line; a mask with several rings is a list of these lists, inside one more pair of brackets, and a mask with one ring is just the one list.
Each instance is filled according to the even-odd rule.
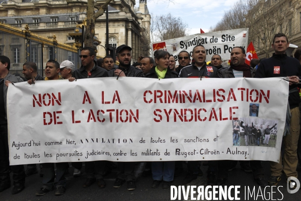
[[[139,68],[130,65],[131,47],[127,45],[117,47],[116,59],[119,61],[119,66],[115,70],[109,71],[110,77],[144,77],[143,72]],[[119,188],[126,181],[127,190],[136,189],[134,167],[135,162],[118,162],[117,178],[113,187]]]

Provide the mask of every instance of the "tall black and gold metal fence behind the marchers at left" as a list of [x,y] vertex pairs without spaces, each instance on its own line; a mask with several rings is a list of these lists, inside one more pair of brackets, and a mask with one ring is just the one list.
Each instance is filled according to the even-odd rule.
[[11,59],[10,72],[23,76],[22,67],[27,61],[35,62],[38,73],[45,77],[44,68],[48,60],[53,59],[61,63],[64,60],[72,61],[77,68],[80,64],[78,50],[31,34],[29,28],[25,31],[10,25],[0,24],[0,55]]

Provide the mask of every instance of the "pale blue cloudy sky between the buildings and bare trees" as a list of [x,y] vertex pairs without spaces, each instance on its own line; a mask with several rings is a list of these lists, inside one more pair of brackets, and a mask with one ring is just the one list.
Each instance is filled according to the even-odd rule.
[[[199,34],[200,29],[208,32],[211,26],[222,19],[225,11],[229,10],[238,0],[147,0],[150,14],[166,15],[171,13],[181,17],[190,28],[190,35]],[[136,7],[139,1],[136,0]]]

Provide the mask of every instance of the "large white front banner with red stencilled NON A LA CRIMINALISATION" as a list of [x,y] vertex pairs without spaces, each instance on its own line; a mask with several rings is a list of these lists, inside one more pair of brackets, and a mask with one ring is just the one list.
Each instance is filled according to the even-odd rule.
[[[10,161],[277,161],[287,98],[288,82],[281,78],[106,77],[10,84]],[[260,105],[258,117],[249,116],[253,103]],[[280,135],[269,145],[244,146],[236,124],[262,121],[277,123]]]

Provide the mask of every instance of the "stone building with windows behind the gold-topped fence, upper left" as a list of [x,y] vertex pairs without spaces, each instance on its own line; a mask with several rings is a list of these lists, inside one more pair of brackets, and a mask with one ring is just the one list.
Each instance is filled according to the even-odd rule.
[[[95,0],[100,7],[105,1]],[[150,15],[146,0],[112,0],[108,7],[109,44],[117,47],[127,44],[132,47],[133,61],[140,55],[142,32],[149,32]],[[0,23],[25,29],[41,37],[53,39],[72,46],[75,41],[69,36],[76,25],[86,18],[86,4],[67,4],[65,0],[0,0]],[[95,37],[105,46],[105,14],[95,22]],[[97,46],[97,56],[105,56],[105,49]]]

